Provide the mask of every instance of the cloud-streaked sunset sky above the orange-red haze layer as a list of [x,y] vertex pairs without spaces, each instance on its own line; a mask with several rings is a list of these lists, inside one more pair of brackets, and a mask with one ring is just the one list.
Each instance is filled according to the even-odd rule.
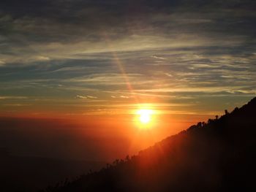
[[0,115],[106,126],[129,124],[147,107],[169,128],[185,121],[157,139],[222,115],[256,93],[255,7],[249,0],[1,0]]

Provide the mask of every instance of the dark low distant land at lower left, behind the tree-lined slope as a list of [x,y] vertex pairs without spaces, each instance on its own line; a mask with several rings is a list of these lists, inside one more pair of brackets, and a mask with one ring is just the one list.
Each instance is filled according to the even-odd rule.
[[1,153],[0,191],[39,191],[45,185],[78,177],[103,165],[105,163],[97,161],[20,157]]

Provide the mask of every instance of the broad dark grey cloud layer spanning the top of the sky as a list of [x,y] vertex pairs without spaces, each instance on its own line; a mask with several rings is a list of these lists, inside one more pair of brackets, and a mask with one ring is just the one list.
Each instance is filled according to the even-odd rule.
[[[140,12],[127,9],[129,1],[38,4],[23,1],[17,9],[16,1],[1,2],[4,63],[90,58],[94,53],[167,47],[249,45],[248,39],[255,37],[256,30],[256,15],[246,12],[253,1],[143,1],[134,5],[143,9]],[[152,57],[164,58],[157,54]]]

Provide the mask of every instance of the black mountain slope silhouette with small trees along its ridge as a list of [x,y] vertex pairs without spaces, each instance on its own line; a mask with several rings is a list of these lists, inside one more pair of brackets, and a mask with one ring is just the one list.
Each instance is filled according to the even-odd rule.
[[256,191],[256,98],[45,191]]

